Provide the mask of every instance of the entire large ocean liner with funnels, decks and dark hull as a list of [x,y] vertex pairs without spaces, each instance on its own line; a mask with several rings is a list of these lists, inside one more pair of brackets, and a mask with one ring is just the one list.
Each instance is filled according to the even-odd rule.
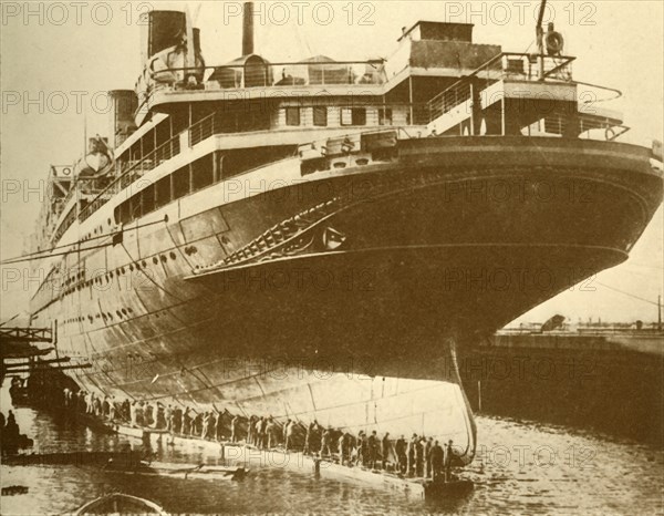
[[[210,65],[186,12],[145,19],[108,138],[51,168],[31,324],[116,399],[453,440],[456,350],[626,260],[661,145],[616,142],[552,27],[535,53],[419,21],[387,60]],[[541,25],[541,22],[540,22]]]

